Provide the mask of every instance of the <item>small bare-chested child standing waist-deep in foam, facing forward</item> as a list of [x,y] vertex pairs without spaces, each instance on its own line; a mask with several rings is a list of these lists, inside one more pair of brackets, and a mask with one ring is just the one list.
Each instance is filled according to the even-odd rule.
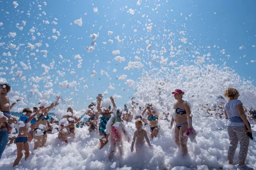
[[134,136],[133,136],[133,139],[131,142],[131,152],[134,150],[134,143],[135,143],[135,149],[137,152],[142,146],[145,145],[145,139],[148,143],[148,146],[152,147],[152,145],[150,144],[149,139],[148,139],[147,131],[142,128],[143,127],[142,121],[137,120],[135,122],[135,125],[136,125],[137,130],[135,130]]

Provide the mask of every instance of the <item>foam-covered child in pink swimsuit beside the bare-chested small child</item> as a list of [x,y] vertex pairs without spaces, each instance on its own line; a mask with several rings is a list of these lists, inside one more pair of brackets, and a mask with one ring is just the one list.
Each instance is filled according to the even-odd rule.
[[107,130],[110,132],[111,138],[109,159],[113,158],[114,152],[116,151],[116,147],[118,147],[119,152],[122,156],[122,134],[124,134],[128,142],[130,142],[130,137],[128,136],[128,133],[125,130],[125,124],[123,123],[121,116],[122,112],[119,109],[117,109],[106,125]]

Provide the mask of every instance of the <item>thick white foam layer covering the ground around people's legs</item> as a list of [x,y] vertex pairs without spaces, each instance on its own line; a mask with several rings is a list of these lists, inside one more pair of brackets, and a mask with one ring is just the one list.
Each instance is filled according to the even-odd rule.
[[[151,143],[154,145],[153,151],[145,147],[145,153],[131,153],[131,144],[124,142],[124,154],[122,158],[119,153],[108,160],[110,145],[107,144],[99,150],[99,136],[96,133],[89,133],[87,127],[76,128],[76,139],[68,139],[70,143],[65,144],[58,140],[57,134],[48,135],[45,147],[33,149],[30,144],[30,155],[28,161],[21,160],[17,170],[37,169],[86,169],[86,170],[108,170],[108,169],[149,169],[149,170],[177,170],[183,166],[184,169],[236,169],[233,165],[227,168],[227,149],[229,139],[227,134],[226,119],[216,119],[214,117],[198,117],[193,119],[193,126],[198,132],[197,144],[188,141],[189,157],[180,156],[175,142],[172,138],[173,129],[169,129],[169,123],[159,121],[161,130],[156,139]],[[135,130],[134,122],[126,124],[129,135],[132,136]],[[149,127],[145,127],[149,131]],[[256,131],[255,123],[252,130]],[[0,161],[0,167],[5,170],[12,170],[13,161],[16,158],[16,146],[11,144],[6,147]],[[238,163],[239,149],[236,150],[234,162]],[[247,164],[256,167],[255,161],[256,142],[250,140],[247,155]],[[115,166],[113,166],[115,165]]]

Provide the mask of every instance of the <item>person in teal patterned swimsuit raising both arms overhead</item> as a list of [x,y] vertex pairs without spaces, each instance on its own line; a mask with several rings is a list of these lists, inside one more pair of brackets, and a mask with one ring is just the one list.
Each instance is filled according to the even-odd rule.
[[[102,96],[101,95],[97,96],[96,99],[98,100],[97,110],[98,110],[99,114],[102,115],[102,117],[100,118],[100,124],[99,124],[99,135],[102,136],[102,139],[99,139],[99,142],[100,142],[99,149],[101,149],[102,147],[105,146],[105,144],[108,143],[109,133],[106,132],[106,125],[107,125],[108,120],[111,118],[110,114],[112,112],[111,112],[111,106],[109,106],[108,109],[104,109],[102,111],[102,108],[101,108]],[[116,103],[114,101],[114,98],[111,96],[110,99],[113,104],[113,108],[115,109]]]

